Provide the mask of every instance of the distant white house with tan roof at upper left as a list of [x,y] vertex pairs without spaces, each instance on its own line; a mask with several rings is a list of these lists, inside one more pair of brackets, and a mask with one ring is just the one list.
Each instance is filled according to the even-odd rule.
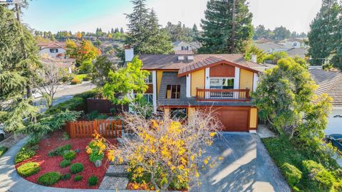
[[49,55],[52,58],[66,58],[66,43],[65,42],[47,42],[38,43],[39,54]]

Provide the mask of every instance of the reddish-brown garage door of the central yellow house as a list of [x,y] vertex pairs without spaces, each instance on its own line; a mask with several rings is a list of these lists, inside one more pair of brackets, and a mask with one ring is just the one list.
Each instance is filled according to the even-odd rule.
[[217,117],[224,125],[224,132],[248,132],[249,110],[217,110]]

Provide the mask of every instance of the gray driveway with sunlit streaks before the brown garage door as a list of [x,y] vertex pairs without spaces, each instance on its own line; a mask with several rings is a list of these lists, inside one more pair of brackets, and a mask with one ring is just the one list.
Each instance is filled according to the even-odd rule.
[[217,163],[192,191],[291,191],[257,134],[222,133],[205,155]]

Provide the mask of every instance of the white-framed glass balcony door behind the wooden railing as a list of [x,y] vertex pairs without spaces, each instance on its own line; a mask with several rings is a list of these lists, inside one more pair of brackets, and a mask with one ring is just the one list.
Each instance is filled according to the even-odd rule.
[[[234,78],[210,78],[210,89],[233,90]],[[233,97],[233,92],[210,92],[210,97]]]

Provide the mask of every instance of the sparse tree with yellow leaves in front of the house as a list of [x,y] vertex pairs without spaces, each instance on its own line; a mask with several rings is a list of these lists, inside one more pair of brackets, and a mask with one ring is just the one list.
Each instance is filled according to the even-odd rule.
[[132,134],[123,137],[120,146],[108,147],[108,159],[128,161],[133,181],[138,185],[142,178],[150,178],[142,181],[150,189],[199,185],[198,169],[212,166],[210,157],[202,154],[222,127],[214,112],[194,111],[185,119],[172,119],[169,114],[146,119],[141,114],[125,114],[125,129]]

